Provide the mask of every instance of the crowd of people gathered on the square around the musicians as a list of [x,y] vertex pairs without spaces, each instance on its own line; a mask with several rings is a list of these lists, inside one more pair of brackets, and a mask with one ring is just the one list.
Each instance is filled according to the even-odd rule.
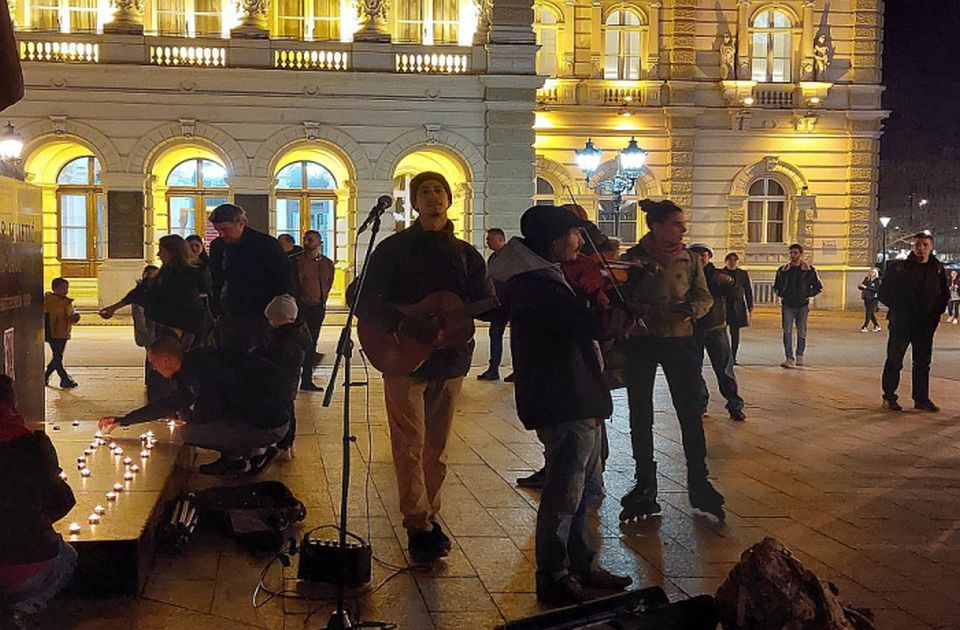
[[[419,320],[401,308],[441,291],[467,306],[498,299],[498,306],[477,315],[490,323],[490,362],[480,380],[500,379],[503,339],[510,330],[513,373],[507,380],[515,383],[517,415],[544,448],[543,470],[518,480],[542,490],[536,524],[542,601],[576,603],[632,581],[599,566],[587,521],[604,488],[605,421],[613,412],[610,391],[618,387],[627,392],[635,465],[620,518],[642,519],[661,511],[653,448],[658,368],[680,425],[690,504],[722,521],[725,499],[707,465],[703,418],[709,393],[703,362],[706,355],[731,420],[746,420],[734,367],[754,296],[739,256],[728,253],[723,267],[716,267],[709,246],[684,244],[682,208],[644,200],[649,231],[622,254],[619,242],[604,236],[582,208],[534,206],[524,212],[519,236],[508,239],[502,229],[488,231],[492,253],[485,263],[476,248],[454,234],[447,216],[452,191],[442,175],[421,173],[410,191],[417,219],[375,248],[362,287],[354,283],[347,295],[362,321],[398,341],[409,336],[434,348],[416,369],[383,378],[411,556],[432,562],[451,550],[439,522],[446,448],[475,345],[472,339],[450,342],[444,317]],[[177,416],[184,421],[185,443],[221,454],[201,472],[256,474],[281,451],[292,452],[298,392],[322,390],[313,373],[334,267],[321,253],[318,232],[304,233],[302,246],[290,235],[273,238],[250,228],[244,211],[232,204],[217,207],[209,218],[219,235],[209,256],[199,236],[164,236],[158,253],[162,265],[145,268],[123,299],[101,311],[109,318],[123,306],[134,308],[136,340],[146,348],[149,402],[101,419],[100,428],[109,432]],[[863,330],[868,324],[879,329],[878,303],[889,308],[883,371],[883,404],[889,410],[901,409],[896,392],[908,346],[913,347],[915,407],[938,410],[929,397],[933,335],[948,303],[950,321],[957,321],[960,288],[956,273],[947,280],[932,249],[932,237],[918,234],[910,257],[891,263],[882,279],[871,273],[860,285],[867,313]],[[791,245],[788,252],[773,287],[781,301],[782,366],[796,369],[805,365],[810,300],[823,284],[801,245]],[[63,352],[78,316],[66,281],[57,279],[52,288],[45,301],[54,355],[47,378],[59,372],[61,385],[72,387],[76,383],[63,368]],[[22,422],[5,392],[0,381],[0,449],[19,446],[29,434],[18,428]],[[49,486],[43,492],[57,500],[30,508],[36,553],[22,561],[40,562],[34,568],[52,572],[44,582],[52,584],[70,554],[50,523],[69,509],[72,496],[61,487],[65,484],[56,483],[52,447],[30,448],[46,453],[36,456],[36,465],[44,467],[39,477]],[[0,547],[16,538],[0,534]],[[20,579],[21,591],[34,597],[33,577],[24,582],[25,575],[0,567],[0,577]]]

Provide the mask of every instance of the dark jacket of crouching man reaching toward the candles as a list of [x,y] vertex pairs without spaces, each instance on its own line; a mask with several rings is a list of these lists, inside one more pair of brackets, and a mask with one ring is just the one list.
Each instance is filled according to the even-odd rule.
[[188,421],[272,429],[290,421],[284,372],[246,352],[195,348],[173,376],[174,389],[125,416],[124,426],[187,412]]

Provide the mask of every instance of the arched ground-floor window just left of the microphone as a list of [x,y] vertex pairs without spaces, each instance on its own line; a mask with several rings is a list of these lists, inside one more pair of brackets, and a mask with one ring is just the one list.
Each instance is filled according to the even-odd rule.
[[277,234],[289,234],[299,245],[307,230],[320,232],[323,255],[335,260],[337,182],[317,162],[301,160],[277,172]]

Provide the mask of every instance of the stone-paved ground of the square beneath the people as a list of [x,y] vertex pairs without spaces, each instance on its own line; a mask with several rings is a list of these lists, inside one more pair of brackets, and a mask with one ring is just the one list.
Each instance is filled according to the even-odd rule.
[[[849,316],[817,315],[807,353],[812,367],[788,371],[776,367],[777,323],[772,312],[760,315],[744,334],[737,373],[746,423],[727,419],[707,368],[710,467],[727,497],[725,527],[691,513],[679,427],[662,379],[656,448],[663,516],[620,526],[618,500],[630,487],[632,458],[626,397],[617,394],[607,496],[594,521],[602,561],[639,585],[661,585],[681,598],[713,592],[745,548],[772,535],[835,582],[846,599],[871,607],[879,628],[960,628],[960,326],[942,326],[937,338],[932,397],[943,411],[890,414],[879,407],[885,334],[861,334],[859,320]],[[335,330],[324,331],[328,359],[335,337]],[[481,331],[481,346],[484,338]],[[511,386],[474,378],[484,353],[481,347],[465,382],[450,446],[443,520],[454,549],[431,573],[391,578],[387,564],[405,563],[406,540],[379,379],[371,381],[369,406],[363,390],[355,398],[350,528],[372,541],[380,561],[370,592],[359,598],[364,619],[418,630],[473,629],[540,610],[533,565],[538,497],[513,480],[540,466],[541,449],[516,420]],[[48,389],[49,419],[99,417],[141,400],[142,351],[129,328],[81,327],[66,356],[68,367],[87,367],[72,369],[76,390]],[[905,375],[901,393],[909,401],[908,370]],[[339,510],[340,411],[324,409],[321,398],[300,396],[296,457],[265,474],[304,501],[310,527],[333,523]],[[316,600],[252,606],[264,563],[229,541],[199,536],[182,556],[158,561],[143,597],[57,602],[31,623],[98,630],[323,628],[330,607]],[[296,587],[294,575],[283,570],[287,588]],[[280,579],[274,567],[267,583],[277,587]]]

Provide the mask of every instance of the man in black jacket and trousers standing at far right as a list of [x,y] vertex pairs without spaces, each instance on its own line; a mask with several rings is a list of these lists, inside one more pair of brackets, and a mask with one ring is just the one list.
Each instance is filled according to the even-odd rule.
[[880,301],[887,313],[889,337],[883,365],[883,406],[902,411],[897,402],[900,370],[907,346],[913,346],[913,406],[922,411],[940,411],[930,400],[930,360],[933,335],[947,306],[950,291],[943,265],[933,255],[933,236],[914,236],[913,251],[906,260],[887,266],[880,283]]

